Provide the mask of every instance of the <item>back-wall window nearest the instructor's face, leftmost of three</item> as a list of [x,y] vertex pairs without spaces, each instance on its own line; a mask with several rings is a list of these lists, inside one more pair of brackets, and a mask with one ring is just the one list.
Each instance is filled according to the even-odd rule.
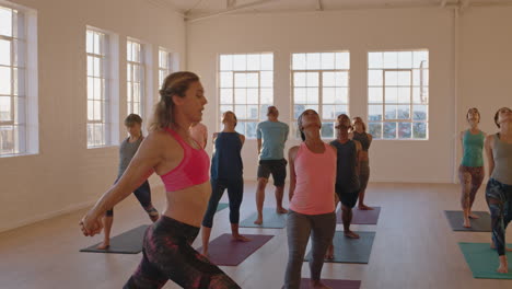
[[274,104],[274,55],[221,55],[219,70],[220,115],[233,111],[236,130],[256,138],[256,125]]

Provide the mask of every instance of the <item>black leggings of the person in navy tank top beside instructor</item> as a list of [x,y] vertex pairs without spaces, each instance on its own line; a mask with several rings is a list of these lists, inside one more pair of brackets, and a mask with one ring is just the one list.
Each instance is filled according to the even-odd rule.
[[208,209],[202,219],[202,226],[207,228],[213,227],[213,216],[217,212],[217,206],[228,188],[228,197],[230,198],[230,222],[238,223],[240,221],[240,206],[244,197],[244,178],[211,178],[211,196],[208,203]]

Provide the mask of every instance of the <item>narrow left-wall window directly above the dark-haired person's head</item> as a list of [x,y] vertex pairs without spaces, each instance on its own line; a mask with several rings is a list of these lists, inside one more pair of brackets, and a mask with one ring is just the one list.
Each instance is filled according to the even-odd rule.
[[137,41],[127,42],[127,113],[144,118],[146,63],[143,45]]

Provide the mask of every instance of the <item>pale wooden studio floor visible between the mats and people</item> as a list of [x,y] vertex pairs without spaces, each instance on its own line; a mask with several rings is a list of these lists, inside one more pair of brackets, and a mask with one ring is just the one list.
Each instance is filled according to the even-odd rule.
[[[255,183],[247,183],[241,218],[255,211]],[[288,194],[288,193],[287,193]],[[512,288],[512,280],[474,279],[457,242],[488,242],[490,233],[452,232],[443,210],[458,209],[458,186],[438,184],[371,184],[368,204],[381,206],[377,226],[353,226],[376,231],[366,265],[326,264],[323,278],[362,280],[361,288]],[[225,198],[225,196],[224,196]],[[158,208],[162,193],[153,195]],[[266,205],[275,204],[267,189]],[[484,190],[475,210],[487,210]],[[81,235],[84,210],[0,234],[0,288],[121,288],[141,255],[79,253],[101,240]],[[148,223],[135,197],[116,207],[113,235]],[[229,232],[229,209],[216,215],[212,239]],[[341,230],[341,228],[338,229]],[[222,267],[242,288],[277,289],[287,264],[286,230],[242,229],[276,234],[237,267]],[[512,240],[509,230],[508,240]],[[198,247],[200,238],[195,242]],[[309,277],[307,263],[302,275]],[[167,282],[164,288],[179,288]]]

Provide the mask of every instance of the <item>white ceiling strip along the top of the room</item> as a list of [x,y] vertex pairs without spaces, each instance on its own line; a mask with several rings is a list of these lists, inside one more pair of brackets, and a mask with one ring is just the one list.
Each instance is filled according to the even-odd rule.
[[365,8],[510,5],[512,0],[160,0],[187,19],[222,13],[328,11]]

